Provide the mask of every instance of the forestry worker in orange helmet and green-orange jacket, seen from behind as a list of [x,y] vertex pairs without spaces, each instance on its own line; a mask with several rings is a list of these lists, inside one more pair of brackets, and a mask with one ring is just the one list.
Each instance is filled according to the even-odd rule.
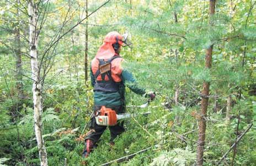
[[[118,32],[109,32],[105,38],[103,45],[99,48],[96,56],[92,60],[90,68],[90,79],[94,91],[94,112],[89,122],[89,132],[85,137],[85,147],[83,157],[88,157],[90,151],[99,140],[100,136],[106,129],[106,126],[97,125],[95,113],[102,106],[115,110],[116,114],[125,112],[125,86],[138,95],[153,100],[156,97],[154,92],[146,92],[146,90],[137,85],[132,74],[121,67],[122,57],[119,53],[121,47],[129,46],[127,35],[121,36]],[[109,71],[103,73],[104,64],[110,63]],[[101,69],[101,70],[100,70]],[[101,74],[102,73],[102,74]],[[114,139],[125,131],[124,121],[119,122],[115,126],[109,126],[110,145],[114,145]]]

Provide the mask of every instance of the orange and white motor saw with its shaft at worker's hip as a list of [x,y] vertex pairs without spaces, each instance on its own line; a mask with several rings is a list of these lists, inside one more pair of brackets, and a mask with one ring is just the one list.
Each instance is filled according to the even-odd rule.
[[[136,106],[140,108],[145,108],[147,107],[148,103],[143,104],[141,106]],[[148,115],[151,112],[145,112],[145,113],[140,113],[142,115]],[[114,126],[118,124],[118,120],[121,119],[127,119],[131,117],[136,117],[138,114],[135,113],[123,113],[123,114],[116,114],[115,110],[112,110],[110,108],[106,108],[105,106],[102,106],[100,110],[98,110],[95,114],[95,119],[97,125],[100,126]]]

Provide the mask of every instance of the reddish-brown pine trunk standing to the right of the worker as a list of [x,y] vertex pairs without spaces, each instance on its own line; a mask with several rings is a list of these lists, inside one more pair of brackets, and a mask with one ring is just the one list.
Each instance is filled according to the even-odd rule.
[[[215,13],[216,0],[209,1],[209,14],[210,14],[210,26],[212,26],[211,16]],[[212,48],[211,45],[206,49],[205,57],[205,68],[210,70],[212,63]],[[209,101],[209,87],[210,82],[204,81],[202,85],[202,101],[201,101],[201,113],[199,117],[199,136],[198,136],[198,147],[196,152],[196,165],[202,165],[204,162],[204,144],[205,144],[205,130],[206,130],[206,120],[207,106]]]

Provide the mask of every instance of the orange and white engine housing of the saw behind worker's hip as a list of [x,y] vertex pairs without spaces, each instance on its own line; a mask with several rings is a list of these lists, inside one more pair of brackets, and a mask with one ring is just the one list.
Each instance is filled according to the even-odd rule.
[[114,126],[118,124],[118,118],[116,117],[115,110],[102,106],[99,110],[99,114],[95,117],[98,125]]

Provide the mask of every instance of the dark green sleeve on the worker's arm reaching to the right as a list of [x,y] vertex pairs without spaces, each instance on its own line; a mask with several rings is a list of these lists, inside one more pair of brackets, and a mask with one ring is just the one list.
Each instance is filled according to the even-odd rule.
[[146,90],[137,85],[137,82],[132,76],[132,74],[127,70],[122,70],[121,79],[124,82],[124,85],[129,87],[132,92],[137,93],[138,95],[145,95]]

